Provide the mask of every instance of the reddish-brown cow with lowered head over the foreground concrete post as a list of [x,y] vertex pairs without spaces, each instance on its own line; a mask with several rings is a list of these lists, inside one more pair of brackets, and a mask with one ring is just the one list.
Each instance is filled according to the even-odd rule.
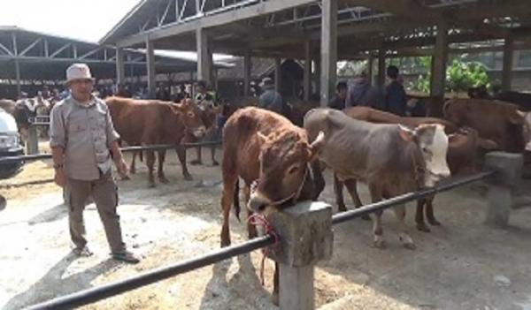
[[[248,215],[250,210],[270,212],[275,208],[289,207],[296,200],[316,198],[309,163],[319,152],[323,139],[321,134],[310,143],[304,129],[268,110],[244,108],[228,118],[223,129],[221,246],[230,245],[228,215],[238,178],[245,182]],[[250,193],[251,185],[254,185],[253,193]],[[256,231],[249,222],[247,228],[249,237],[254,237]],[[276,303],[276,264],[273,283],[273,301]]]

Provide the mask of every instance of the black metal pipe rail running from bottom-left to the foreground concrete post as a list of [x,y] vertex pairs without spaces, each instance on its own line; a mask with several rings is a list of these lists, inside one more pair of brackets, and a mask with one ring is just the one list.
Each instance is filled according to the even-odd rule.
[[153,269],[125,280],[78,291],[70,295],[58,297],[57,299],[50,299],[40,304],[29,306],[27,309],[72,309],[76,306],[88,305],[98,300],[116,296],[126,291],[132,291],[172,276],[178,276],[185,272],[203,268],[219,261],[225,261],[244,253],[250,253],[265,246],[271,246],[274,242],[275,239],[271,235],[253,238],[236,246],[227,246],[212,253],[207,253],[187,261],[180,261],[163,268]]

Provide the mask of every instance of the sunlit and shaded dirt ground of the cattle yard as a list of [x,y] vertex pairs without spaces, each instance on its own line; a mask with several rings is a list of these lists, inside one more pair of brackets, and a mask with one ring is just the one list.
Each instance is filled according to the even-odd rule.
[[[6,187],[51,178],[49,162],[27,164],[16,178],[0,182],[0,193],[8,200],[0,211],[0,307],[18,309],[218,249],[219,167],[210,166],[208,159],[206,166],[190,166],[194,180],[187,182],[176,155],[168,159],[168,185],[148,189],[142,164],[132,180],[119,181],[125,240],[142,256],[135,266],[109,260],[94,205],[88,206],[85,222],[95,255],[74,258],[58,187]],[[527,182],[520,192],[530,189]],[[368,201],[365,186],[360,193]],[[531,208],[513,211],[508,230],[491,229],[482,225],[485,195],[486,187],[479,183],[437,196],[435,212],[443,226],[431,233],[414,230],[410,205],[407,224],[417,244],[413,251],[400,246],[392,212],[383,219],[385,249],[373,248],[368,222],[335,226],[333,258],[316,269],[317,305],[327,310],[531,309]],[[330,182],[321,199],[334,202]],[[231,232],[233,244],[245,240],[244,225],[232,215]],[[257,251],[85,308],[276,309],[270,302],[273,263],[266,262],[263,287],[260,259]]]

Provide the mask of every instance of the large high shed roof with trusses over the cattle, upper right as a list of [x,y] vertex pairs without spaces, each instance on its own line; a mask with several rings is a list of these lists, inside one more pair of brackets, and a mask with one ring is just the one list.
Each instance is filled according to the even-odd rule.
[[[450,43],[514,35],[517,48],[529,46],[528,0],[337,1],[340,58],[433,45],[443,20]],[[196,50],[194,31],[206,27],[213,52],[300,58],[305,40],[319,46],[320,16],[317,0],[142,0],[100,42],[139,47],[150,37],[157,48]]]

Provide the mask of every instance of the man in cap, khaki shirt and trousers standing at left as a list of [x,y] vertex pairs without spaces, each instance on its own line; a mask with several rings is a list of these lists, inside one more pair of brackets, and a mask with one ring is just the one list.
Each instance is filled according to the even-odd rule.
[[70,236],[74,253],[90,256],[85,238],[83,209],[89,196],[96,202],[112,258],[137,263],[122,240],[119,224],[118,189],[112,178],[112,162],[120,175],[127,174],[127,163],[119,150],[119,135],[114,131],[105,102],[93,96],[94,79],[87,64],[66,69],[66,86],[71,95],[56,104],[50,114],[50,147],[55,183],[67,187]]

